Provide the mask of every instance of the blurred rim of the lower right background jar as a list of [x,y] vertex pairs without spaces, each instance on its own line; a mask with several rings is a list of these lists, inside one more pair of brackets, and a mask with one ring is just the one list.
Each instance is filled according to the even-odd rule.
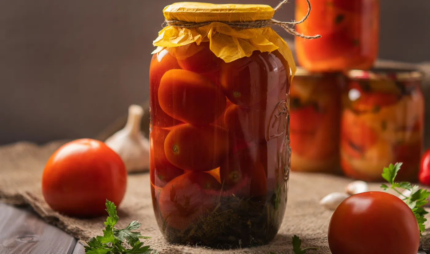
[[347,77],[354,80],[417,81],[423,73],[414,68],[374,67],[370,70],[349,70]]

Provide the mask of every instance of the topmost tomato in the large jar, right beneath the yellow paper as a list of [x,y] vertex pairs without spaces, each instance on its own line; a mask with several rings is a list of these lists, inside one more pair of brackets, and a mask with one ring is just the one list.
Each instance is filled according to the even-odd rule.
[[211,51],[209,42],[178,47],[175,49],[175,56],[182,69],[197,73],[215,72],[223,62]]

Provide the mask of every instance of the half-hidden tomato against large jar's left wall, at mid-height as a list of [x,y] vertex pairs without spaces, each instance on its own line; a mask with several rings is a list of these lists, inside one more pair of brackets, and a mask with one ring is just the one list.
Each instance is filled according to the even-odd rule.
[[154,127],[151,131],[150,175],[151,182],[158,187],[164,187],[173,178],[180,176],[184,170],[178,168],[166,158],[164,141],[169,129]]

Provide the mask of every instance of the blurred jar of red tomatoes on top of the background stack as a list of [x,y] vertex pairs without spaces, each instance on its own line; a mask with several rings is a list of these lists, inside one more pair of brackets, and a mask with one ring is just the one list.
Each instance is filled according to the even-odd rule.
[[[296,1],[296,20],[307,13]],[[313,0],[312,15],[297,24],[299,33],[321,38],[295,38],[298,63],[311,71],[367,70],[378,55],[379,0]]]

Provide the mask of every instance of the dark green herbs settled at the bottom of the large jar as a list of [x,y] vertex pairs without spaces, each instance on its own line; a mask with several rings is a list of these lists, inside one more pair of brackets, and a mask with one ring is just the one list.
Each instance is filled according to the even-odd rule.
[[[169,226],[161,213],[156,218],[168,242],[198,244],[217,249],[245,248],[267,244],[276,236],[285,213],[282,187],[264,197],[220,196],[214,209],[193,220],[184,230]],[[224,244],[221,244],[224,243]]]

